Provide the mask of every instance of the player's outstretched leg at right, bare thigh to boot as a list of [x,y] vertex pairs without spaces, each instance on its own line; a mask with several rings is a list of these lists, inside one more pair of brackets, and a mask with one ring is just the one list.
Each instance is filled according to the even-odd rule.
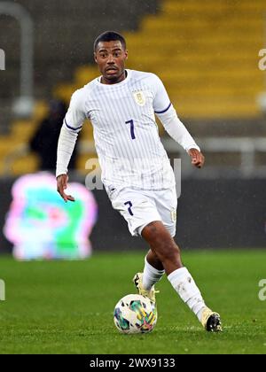
[[142,230],[142,236],[162,263],[168,275],[168,281],[202,325],[207,330],[221,330],[220,315],[212,312],[205,305],[192,275],[182,265],[180,250],[176,242],[163,223],[161,221],[149,223]]

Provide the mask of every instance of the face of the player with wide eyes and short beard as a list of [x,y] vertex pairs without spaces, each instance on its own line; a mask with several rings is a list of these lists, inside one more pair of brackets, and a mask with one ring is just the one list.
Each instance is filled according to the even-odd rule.
[[125,79],[128,50],[123,49],[120,41],[98,43],[94,58],[104,84],[115,84]]

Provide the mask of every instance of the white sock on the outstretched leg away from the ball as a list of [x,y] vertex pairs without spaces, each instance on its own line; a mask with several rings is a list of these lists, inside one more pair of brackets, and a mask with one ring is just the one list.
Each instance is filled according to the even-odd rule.
[[206,305],[188,269],[186,267],[177,268],[168,275],[168,281],[200,321],[203,307]]

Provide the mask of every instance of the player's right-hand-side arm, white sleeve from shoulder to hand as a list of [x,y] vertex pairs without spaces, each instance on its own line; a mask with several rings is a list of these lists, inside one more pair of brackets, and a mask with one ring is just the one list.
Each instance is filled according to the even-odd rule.
[[164,88],[163,83],[156,76],[155,80],[155,96],[153,100],[153,109],[160,119],[163,127],[177,143],[179,143],[192,158],[192,165],[195,167],[203,167],[204,156],[200,151],[200,147],[192,138],[191,134],[184,127],[184,124],[179,120],[176,110],[170,103],[168,93]]

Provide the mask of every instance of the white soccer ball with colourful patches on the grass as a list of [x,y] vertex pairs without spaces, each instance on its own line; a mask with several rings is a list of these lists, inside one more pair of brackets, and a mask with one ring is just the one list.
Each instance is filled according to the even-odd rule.
[[129,294],[114,307],[113,322],[121,333],[148,333],[157,322],[157,309],[149,298]]

